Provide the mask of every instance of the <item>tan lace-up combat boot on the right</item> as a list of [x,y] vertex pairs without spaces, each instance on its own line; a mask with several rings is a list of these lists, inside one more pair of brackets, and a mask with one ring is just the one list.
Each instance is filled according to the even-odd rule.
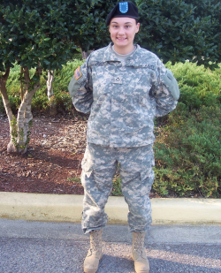
[[144,248],[145,232],[133,232],[132,256],[136,273],[149,273],[149,260]]

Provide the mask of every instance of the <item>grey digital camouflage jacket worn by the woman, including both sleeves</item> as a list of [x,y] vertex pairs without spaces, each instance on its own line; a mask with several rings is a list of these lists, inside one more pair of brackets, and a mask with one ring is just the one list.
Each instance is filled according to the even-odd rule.
[[91,53],[68,86],[88,118],[88,142],[111,148],[153,144],[154,118],[174,110],[179,87],[155,54],[139,45],[126,60],[108,47]]

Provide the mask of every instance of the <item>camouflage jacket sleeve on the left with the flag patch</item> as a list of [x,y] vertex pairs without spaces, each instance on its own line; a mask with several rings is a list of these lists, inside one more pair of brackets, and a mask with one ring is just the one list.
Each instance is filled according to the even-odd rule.
[[79,66],[68,85],[69,94],[76,110],[87,114],[93,103],[93,87],[88,59]]

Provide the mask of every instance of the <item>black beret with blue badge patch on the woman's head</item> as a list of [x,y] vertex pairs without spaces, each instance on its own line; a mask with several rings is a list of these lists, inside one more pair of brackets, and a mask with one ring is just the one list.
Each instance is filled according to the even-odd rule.
[[133,19],[138,19],[138,8],[130,1],[119,2],[108,14],[106,19],[106,26],[109,26],[110,20],[115,17],[130,17]]

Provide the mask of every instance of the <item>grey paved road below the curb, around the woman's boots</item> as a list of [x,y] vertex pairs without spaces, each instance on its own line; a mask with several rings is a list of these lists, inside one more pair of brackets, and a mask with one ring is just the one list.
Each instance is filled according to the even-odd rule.
[[[1,273],[83,273],[88,236],[80,224],[0,219]],[[134,273],[126,225],[103,231],[97,273]],[[145,239],[152,273],[221,272],[221,226],[152,226]]]

